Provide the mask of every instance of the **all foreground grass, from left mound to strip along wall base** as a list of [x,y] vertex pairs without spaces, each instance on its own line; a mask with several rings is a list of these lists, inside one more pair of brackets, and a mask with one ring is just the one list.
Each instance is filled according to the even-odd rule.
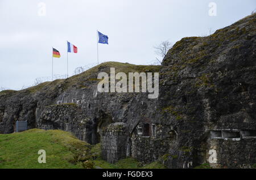
[[[38,151],[46,151],[46,163]],[[69,132],[31,129],[0,134],[0,168],[164,168],[153,162],[142,165],[133,158],[109,164],[100,157],[100,144],[82,142]]]

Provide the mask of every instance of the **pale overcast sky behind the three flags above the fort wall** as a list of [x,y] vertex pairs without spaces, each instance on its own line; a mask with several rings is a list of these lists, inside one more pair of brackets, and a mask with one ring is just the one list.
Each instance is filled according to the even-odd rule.
[[[216,16],[209,15],[210,2]],[[61,54],[53,73],[66,74],[67,40],[78,48],[68,54],[70,75],[97,63],[97,29],[109,36],[109,45],[99,44],[100,62],[148,65],[160,42],[209,35],[255,8],[255,0],[0,0],[0,88],[18,90],[51,77],[52,47]]]

